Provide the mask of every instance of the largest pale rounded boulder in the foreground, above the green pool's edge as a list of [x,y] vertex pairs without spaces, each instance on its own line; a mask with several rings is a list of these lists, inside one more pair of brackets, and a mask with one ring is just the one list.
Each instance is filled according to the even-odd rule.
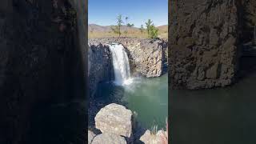
[[102,133],[132,137],[132,112],[115,103],[111,103],[99,110],[96,114],[95,126]]

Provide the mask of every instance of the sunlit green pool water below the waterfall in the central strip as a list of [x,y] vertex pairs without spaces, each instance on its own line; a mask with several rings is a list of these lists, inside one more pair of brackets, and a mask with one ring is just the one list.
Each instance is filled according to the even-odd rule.
[[126,106],[137,115],[136,120],[147,129],[158,125],[165,128],[168,116],[168,75],[159,78],[133,78],[126,86],[106,83],[98,94],[104,102],[116,102]]

